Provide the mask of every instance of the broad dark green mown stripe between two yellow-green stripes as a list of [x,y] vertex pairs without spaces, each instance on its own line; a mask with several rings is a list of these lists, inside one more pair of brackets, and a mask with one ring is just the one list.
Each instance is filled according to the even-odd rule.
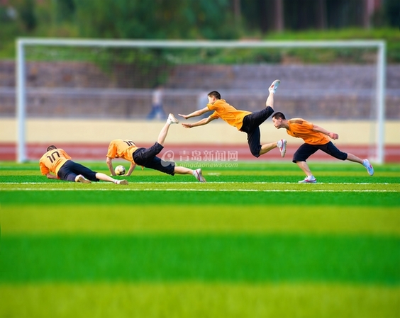
[[0,282],[194,280],[399,285],[399,264],[400,239],[393,237],[16,236],[1,240]]

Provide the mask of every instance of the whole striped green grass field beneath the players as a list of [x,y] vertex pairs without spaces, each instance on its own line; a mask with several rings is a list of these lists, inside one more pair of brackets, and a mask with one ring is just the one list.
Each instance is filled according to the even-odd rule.
[[310,166],[116,186],[1,162],[0,317],[400,317],[400,164]]

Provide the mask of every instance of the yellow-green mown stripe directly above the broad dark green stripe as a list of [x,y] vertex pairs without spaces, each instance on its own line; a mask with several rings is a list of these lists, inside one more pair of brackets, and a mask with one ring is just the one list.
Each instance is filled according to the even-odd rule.
[[3,205],[1,234],[317,233],[400,237],[399,208],[303,205]]

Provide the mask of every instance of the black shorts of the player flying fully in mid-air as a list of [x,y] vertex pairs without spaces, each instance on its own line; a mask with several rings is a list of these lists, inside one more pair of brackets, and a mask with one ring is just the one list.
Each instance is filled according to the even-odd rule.
[[267,106],[263,110],[256,111],[255,113],[251,113],[246,115],[243,118],[243,125],[240,128],[240,131],[246,132],[248,134],[248,144],[250,148],[250,152],[254,157],[260,157],[260,149],[261,149],[261,133],[260,133],[260,125],[267,120],[274,113],[272,107]]

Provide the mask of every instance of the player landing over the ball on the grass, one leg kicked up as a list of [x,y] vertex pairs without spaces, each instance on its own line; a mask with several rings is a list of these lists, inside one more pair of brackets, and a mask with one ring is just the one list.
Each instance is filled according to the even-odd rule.
[[157,142],[150,148],[137,147],[135,143],[131,140],[113,140],[109,144],[109,151],[107,152],[106,164],[109,166],[110,172],[113,176],[116,175],[113,169],[113,159],[122,158],[130,161],[130,167],[126,176],[130,176],[135,166],[144,166],[145,168],[154,169],[157,171],[164,172],[165,174],[191,174],[198,181],[206,182],[201,169],[192,170],[184,166],[175,166],[173,161],[164,161],[157,157],[162,149],[164,149],[165,138],[167,137],[170,125],[179,123],[179,120],[170,114],[168,116],[167,122],[160,131],[158,135]]

